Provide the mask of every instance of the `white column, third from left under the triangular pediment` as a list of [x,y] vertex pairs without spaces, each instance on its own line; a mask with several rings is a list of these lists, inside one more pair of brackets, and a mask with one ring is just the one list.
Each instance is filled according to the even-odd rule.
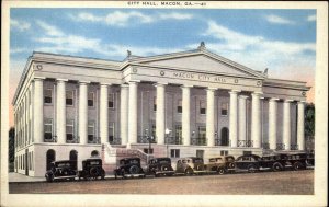
[[191,143],[191,126],[190,126],[191,88],[192,85],[182,87],[182,138],[183,138],[184,146],[190,146]]

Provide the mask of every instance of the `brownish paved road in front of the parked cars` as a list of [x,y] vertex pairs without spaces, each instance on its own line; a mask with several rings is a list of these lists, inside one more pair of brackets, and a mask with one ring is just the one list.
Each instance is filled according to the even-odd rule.
[[14,194],[311,195],[314,194],[314,171],[10,183],[9,192]]

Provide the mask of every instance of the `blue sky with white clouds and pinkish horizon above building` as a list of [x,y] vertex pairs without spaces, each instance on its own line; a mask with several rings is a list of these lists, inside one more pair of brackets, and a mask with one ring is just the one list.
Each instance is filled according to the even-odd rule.
[[[306,81],[316,68],[316,10],[264,9],[26,9],[10,10],[10,105],[33,51],[123,60],[195,49],[270,78]],[[12,106],[10,106],[10,125]]]

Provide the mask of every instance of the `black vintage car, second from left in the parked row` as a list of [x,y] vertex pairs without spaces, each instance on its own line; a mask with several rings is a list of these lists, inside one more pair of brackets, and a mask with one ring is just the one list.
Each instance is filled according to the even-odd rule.
[[97,180],[101,177],[102,180],[105,179],[105,171],[102,166],[102,159],[99,158],[91,158],[86,159],[82,161],[82,170],[78,172],[78,177],[81,180]]

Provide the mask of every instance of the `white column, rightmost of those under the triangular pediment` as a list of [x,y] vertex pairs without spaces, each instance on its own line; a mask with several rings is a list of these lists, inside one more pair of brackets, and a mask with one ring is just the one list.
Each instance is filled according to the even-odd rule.
[[254,148],[261,148],[261,107],[260,96],[262,93],[252,93],[252,115],[251,115],[251,140]]

